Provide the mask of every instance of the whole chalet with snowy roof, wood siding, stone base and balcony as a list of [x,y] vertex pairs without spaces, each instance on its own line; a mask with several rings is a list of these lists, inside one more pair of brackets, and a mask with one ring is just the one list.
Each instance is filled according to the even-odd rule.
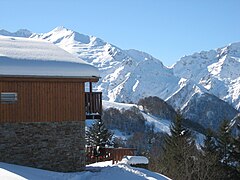
[[101,116],[98,80],[97,68],[54,44],[0,36],[0,161],[82,170],[85,119]]

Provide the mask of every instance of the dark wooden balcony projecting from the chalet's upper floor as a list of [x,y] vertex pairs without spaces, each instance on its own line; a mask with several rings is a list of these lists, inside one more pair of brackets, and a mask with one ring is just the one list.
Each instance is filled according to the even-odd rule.
[[86,119],[101,119],[102,92],[85,92]]

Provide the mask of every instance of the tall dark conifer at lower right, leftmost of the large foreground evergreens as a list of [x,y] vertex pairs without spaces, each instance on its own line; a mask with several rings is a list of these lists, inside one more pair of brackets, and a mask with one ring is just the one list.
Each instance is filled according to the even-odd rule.
[[165,137],[160,159],[161,172],[172,179],[193,179],[194,153],[196,151],[192,133],[183,127],[178,113],[173,122],[171,135]]

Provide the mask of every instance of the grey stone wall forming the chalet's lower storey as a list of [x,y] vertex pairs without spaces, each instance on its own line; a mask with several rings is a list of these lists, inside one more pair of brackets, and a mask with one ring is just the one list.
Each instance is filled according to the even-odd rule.
[[0,123],[0,161],[52,171],[85,167],[85,121]]

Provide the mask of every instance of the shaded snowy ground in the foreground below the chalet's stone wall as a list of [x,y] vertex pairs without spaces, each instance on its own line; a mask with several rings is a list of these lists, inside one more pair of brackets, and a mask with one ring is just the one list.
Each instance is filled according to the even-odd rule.
[[90,164],[83,172],[60,173],[0,162],[1,180],[165,180],[161,174],[111,161]]

